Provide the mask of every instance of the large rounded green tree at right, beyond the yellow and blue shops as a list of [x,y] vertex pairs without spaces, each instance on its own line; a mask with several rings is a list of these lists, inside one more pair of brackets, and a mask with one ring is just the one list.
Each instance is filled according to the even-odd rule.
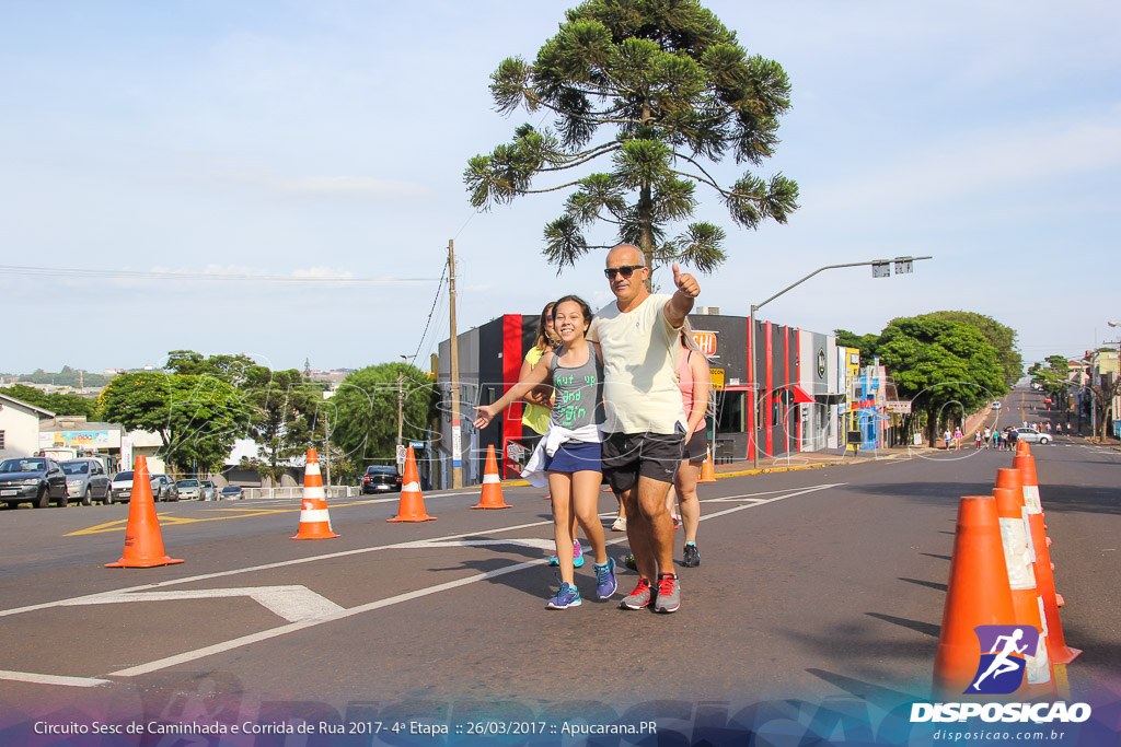
[[[880,335],[880,362],[933,443],[939,426],[1008,393],[997,349],[969,324],[929,315],[893,319]],[[961,423],[963,424],[963,423]]]

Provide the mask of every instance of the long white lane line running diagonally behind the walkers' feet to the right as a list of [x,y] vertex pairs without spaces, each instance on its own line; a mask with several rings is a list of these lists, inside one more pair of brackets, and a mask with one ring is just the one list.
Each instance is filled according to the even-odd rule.
[[[745,511],[748,508],[756,508],[767,503],[775,503],[777,501],[785,501],[786,498],[793,498],[798,495],[805,495],[807,493],[815,493],[817,491],[824,491],[831,487],[837,487],[844,485],[845,483],[836,483],[832,485],[817,485],[814,487],[805,488],[802,491],[796,491],[793,493],[787,493],[785,495],[778,495],[773,498],[768,498],[759,503],[747,503],[743,505],[734,506],[732,508],[726,508],[724,511],[719,511],[714,514],[708,514],[702,516],[701,521],[707,519],[715,519],[717,516],[725,516],[728,514],[733,514],[740,511]],[[747,497],[747,496],[739,496]],[[715,499],[715,498],[713,498]],[[541,522],[549,523],[553,522]],[[626,541],[626,538],[619,538],[615,540],[609,540],[606,544],[619,544]],[[350,609],[344,609],[333,615],[327,615],[326,617],[321,617],[315,620],[305,620],[302,623],[293,623],[290,625],[282,625],[280,627],[275,627],[270,631],[261,631],[251,635],[242,636],[240,638],[234,638],[232,641],[225,641],[223,643],[216,643],[211,646],[204,646],[202,648],[196,648],[194,651],[187,651],[182,654],[176,654],[175,656],[168,656],[166,659],[160,659],[155,662],[148,662],[147,664],[139,664],[137,666],[130,666],[128,669],[119,670],[117,672],[110,672],[106,676],[139,676],[141,674],[150,674],[151,672],[157,672],[169,666],[176,666],[178,664],[185,664],[187,662],[193,662],[198,659],[204,659],[206,656],[212,656],[214,654],[224,653],[226,651],[232,651],[234,648],[240,648],[241,646],[248,646],[253,643],[260,643],[262,641],[268,641],[269,638],[275,638],[281,635],[287,635],[289,633],[296,633],[297,631],[304,631],[317,625],[323,625],[325,623],[333,623],[335,620],[345,619],[348,617],[353,617],[354,615],[361,615],[363,613],[372,611],[376,609],[382,609],[385,607],[391,607],[393,605],[401,604],[402,601],[411,601],[414,599],[420,599],[433,594],[438,594],[441,591],[448,591],[451,589],[457,589],[470,583],[478,583],[479,581],[487,581],[499,576],[506,576],[507,573],[516,573],[518,571],[525,570],[527,568],[532,568],[535,566],[540,566],[548,562],[548,559],[540,558],[538,560],[530,560],[527,562],[516,563],[513,566],[507,566],[506,568],[499,568],[497,570],[488,571],[485,573],[478,573],[475,576],[469,576],[466,578],[457,579],[454,581],[447,581],[445,583],[437,583],[436,586],[430,586],[425,589],[417,589],[416,591],[408,591],[406,594],[397,595],[396,597],[389,597],[387,599],[379,599],[378,601],[371,601],[365,605],[359,605],[358,607],[351,607]]]

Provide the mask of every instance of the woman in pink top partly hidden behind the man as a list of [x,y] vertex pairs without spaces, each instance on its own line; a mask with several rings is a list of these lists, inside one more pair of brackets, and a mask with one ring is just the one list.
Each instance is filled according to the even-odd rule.
[[688,436],[683,447],[682,464],[674,476],[674,488],[682,511],[682,524],[685,527],[682,564],[695,568],[701,564],[701,553],[697,550],[697,525],[701,523],[697,476],[708,454],[705,414],[708,411],[712,376],[708,372],[708,358],[693,339],[693,328],[689,327],[688,319],[685,320],[685,326],[677,337],[677,385],[682,390],[686,418],[685,432]]

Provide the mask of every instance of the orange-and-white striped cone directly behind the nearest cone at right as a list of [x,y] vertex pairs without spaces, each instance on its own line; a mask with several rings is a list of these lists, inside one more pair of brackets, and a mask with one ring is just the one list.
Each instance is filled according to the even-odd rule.
[[[1001,473],[1006,473],[1003,475]],[[1036,589],[1036,575],[1031,570],[1031,545],[1025,526],[1023,492],[1004,484],[1018,484],[1019,470],[1001,469],[997,474],[997,514],[1000,516],[1000,539],[1004,547],[1004,566],[1012,591],[1012,614],[1017,625],[1030,625],[1039,632],[1034,653],[1025,652],[1026,682],[1017,690],[1028,699],[1055,698],[1055,675],[1047,655],[1047,626],[1044,625],[1044,603]]]

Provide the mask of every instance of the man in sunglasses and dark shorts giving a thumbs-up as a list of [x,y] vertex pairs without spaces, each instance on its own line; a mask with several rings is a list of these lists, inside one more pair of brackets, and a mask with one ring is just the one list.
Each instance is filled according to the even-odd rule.
[[642,252],[630,244],[608,253],[603,272],[615,302],[596,312],[587,333],[603,358],[603,476],[623,504],[641,577],[620,607],[673,613],[680,588],[666,495],[680,464],[686,422],[675,373],[677,335],[701,287],[675,263],[676,292],[651,293]]

